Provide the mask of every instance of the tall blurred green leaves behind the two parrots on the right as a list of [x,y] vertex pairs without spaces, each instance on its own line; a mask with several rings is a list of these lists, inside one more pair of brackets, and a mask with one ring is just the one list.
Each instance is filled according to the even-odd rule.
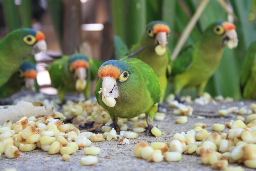
[[[122,2],[119,0],[112,0],[114,33],[121,36],[130,47],[138,41],[139,37],[137,35],[145,30],[145,20],[146,23],[154,20],[163,20],[171,27],[168,46],[173,50],[201,0],[129,1],[129,7],[137,9],[137,13],[139,11],[142,14],[140,17],[136,18],[130,18],[130,16],[133,15],[127,11],[134,10],[130,10],[128,6],[124,5],[125,2],[125,0]],[[233,10],[238,18],[238,20],[234,20],[234,23],[238,32],[239,44],[238,47],[233,50],[225,48],[220,66],[214,76],[209,80],[206,91],[212,96],[223,95],[240,99],[241,93],[239,81],[242,63],[247,48],[250,43],[256,39],[256,0],[226,0],[225,2],[228,5],[227,8]],[[129,21],[131,19],[134,21],[132,24],[130,24]],[[200,38],[201,33],[208,25],[220,20],[232,21],[233,18],[224,10],[218,0],[210,0],[203,14],[199,18],[196,27],[187,39],[186,45],[196,43]],[[193,91],[186,92],[193,94]]]

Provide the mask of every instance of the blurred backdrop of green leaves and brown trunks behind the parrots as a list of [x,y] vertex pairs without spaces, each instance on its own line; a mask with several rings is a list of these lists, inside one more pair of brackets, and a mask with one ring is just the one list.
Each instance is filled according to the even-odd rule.
[[[31,16],[37,9],[31,7],[31,4],[36,1],[47,2],[46,11],[49,11],[55,31],[55,37],[48,36],[47,39],[57,39],[62,54],[73,53],[75,47],[88,39],[94,58],[103,60],[114,58],[113,33],[121,36],[128,47],[131,47],[140,39],[146,24],[154,20],[163,20],[169,24],[171,33],[168,46],[173,50],[184,28],[202,2],[202,0],[0,0],[8,31],[19,27],[32,27]],[[219,20],[233,21],[233,17],[226,12],[219,1],[210,0],[185,46],[196,43],[201,33],[211,23]],[[238,19],[234,20],[234,23],[239,44],[233,50],[225,48],[220,66],[208,82],[206,91],[212,96],[221,94],[240,99],[239,80],[242,64],[247,48],[256,39],[256,0],[224,1],[227,4],[226,8],[233,11]],[[83,23],[92,22],[104,25],[100,34],[97,33],[99,36],[95,37],[94,32],[84,34],[80,27]],[[43,27],[42,31],[44,31]],[[52,45],[51,42],[48,44]],[[171,92],[171,89],[167,92]],[[193,94],[191,90],[187,92]]]

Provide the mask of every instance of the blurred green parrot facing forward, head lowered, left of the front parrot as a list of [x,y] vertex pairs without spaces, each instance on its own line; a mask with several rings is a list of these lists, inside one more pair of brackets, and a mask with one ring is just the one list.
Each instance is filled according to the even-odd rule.
[[82,92],[86,98],[90,97],[91,80],[95,80],[98,67],[102,62],[92,60],[81,53],[75,53],[55,60],[47,70],[50,74],[52,86],[58,90],[61,101],[66,92]]

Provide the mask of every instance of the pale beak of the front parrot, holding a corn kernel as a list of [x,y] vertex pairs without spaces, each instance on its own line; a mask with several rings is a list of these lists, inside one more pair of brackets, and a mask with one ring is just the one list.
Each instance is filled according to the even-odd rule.
[[114,107],[116,105],[116,100],[119,96],[117,82],[112,76],[106,76],[102,78],[102,89],[99,93],[102,92],[102,101],[105,105],[109,107]]

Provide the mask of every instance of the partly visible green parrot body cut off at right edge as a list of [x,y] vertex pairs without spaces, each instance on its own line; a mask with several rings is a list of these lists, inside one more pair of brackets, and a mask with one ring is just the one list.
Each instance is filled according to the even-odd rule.
[[241,75],[242,96],[256,99],[256,41],[252,42],[245,57]]

